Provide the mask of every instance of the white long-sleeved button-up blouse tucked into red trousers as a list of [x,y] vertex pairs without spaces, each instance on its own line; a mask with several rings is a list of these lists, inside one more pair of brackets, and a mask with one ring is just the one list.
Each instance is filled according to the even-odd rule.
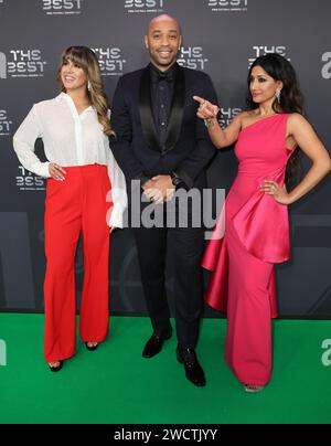
[[[43,140],[46,162],[41,162],[34,152],[38,138]],[[107,166],[114,202],[108,224],[111,227],[124,226],[122,214],[127,208],[125,176],[114,158],[94,107],[78,114],[73,99],[65,93],[34,104],[13,136],[13,147],[23,167],[44,178],[51,177],[50,162],[64,167]]]

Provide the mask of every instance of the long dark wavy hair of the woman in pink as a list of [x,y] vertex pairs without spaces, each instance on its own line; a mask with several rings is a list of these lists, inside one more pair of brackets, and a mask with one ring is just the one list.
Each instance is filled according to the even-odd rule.
[[[252,70],[255,66],[260,66],[275,81],[282,82],[280,100],[275,98],[273,108],[275,113],[299,113],[303,115],[303,98],[299,88],[297,74],[292,65],[287,59],[276,53],[269,53],[257,57],[249,68],[247,77],[247,98],[246,103],[249,109],[258,108],[249,91]],[[301,169],[302,150],[298,147],[291,155],[286,168],[286,181],[295,182],[299,179]]]

